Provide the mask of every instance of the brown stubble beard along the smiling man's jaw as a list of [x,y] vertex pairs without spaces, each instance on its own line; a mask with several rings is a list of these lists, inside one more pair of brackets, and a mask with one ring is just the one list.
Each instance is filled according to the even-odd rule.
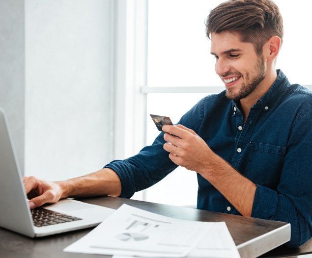
[[[231,88],[227,88],[226,96],[228,99],[238,102],[241,99],[250,95],[259,83],[266,77],[266,68],[264,65],[264,59],[262,56],[258,57],[257,63],[254,67],[255,76],[250,78],[250,74],[246,74],[246,82],[243,82],[239,92],[235,93],[231,91]],[[241,75],[242,76],[242,75]]]

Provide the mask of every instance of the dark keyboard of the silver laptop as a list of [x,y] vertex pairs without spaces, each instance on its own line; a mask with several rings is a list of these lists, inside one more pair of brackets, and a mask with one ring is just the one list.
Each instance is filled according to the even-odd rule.
[[33,224],[36,227],[56,225],[59,223],[81,220],[81,218],[58,213],[56,211],[48,210],[45,208],[31,209],[31,216],[32,216]]

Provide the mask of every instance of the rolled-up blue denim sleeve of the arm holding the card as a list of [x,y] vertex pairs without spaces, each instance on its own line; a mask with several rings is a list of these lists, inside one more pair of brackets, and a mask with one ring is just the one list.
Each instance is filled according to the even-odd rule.
[[276,190],[257,185],[252,217],[291,224],[289,247],[312,235],[312,103],[293,122]]

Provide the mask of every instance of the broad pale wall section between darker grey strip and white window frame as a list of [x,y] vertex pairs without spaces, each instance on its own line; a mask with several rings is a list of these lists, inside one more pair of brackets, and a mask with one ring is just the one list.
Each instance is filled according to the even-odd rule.
[[112,159],[113,0],[25,0],[25,174],[63,180]]

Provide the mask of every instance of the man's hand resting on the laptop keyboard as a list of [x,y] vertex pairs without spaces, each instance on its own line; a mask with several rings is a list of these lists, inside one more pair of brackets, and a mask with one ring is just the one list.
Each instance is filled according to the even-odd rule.
[[42,206],[45,203],[56,203],[61,199],[61,188],[56,182],[36,177],[23,177],[23,182],[31,209]]

